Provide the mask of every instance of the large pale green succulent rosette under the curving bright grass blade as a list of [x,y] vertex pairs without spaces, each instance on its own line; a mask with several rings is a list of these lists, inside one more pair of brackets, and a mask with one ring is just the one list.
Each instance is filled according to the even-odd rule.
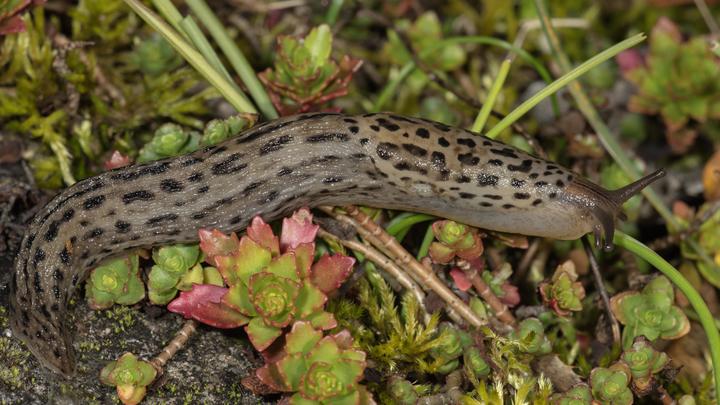
[[615,317],[625,325],[623,347],[629,348],[637,336],[650,341],[678,339],[690,331],[690,321],[673,303],[675,294],[665,276],[652,279],[642,291],[625,291],[610,299]]

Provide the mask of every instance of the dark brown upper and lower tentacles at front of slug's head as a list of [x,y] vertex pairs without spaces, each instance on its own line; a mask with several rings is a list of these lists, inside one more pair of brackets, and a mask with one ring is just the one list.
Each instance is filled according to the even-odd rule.
[[595,218],[598,220],[598,224],[593,230],[596,247],[600,247],[602,243],[602,236],[604,234],[604,249],[611,250],[613,248],[615,218],[619,217],[621,219],[625,219],[625,215],[620,211],[623,203],[663,176],[665,176],[665,170],[659,169],[617,190],[599,191],[607,204],[605,204],[605,207],[599,206],[594,210]]

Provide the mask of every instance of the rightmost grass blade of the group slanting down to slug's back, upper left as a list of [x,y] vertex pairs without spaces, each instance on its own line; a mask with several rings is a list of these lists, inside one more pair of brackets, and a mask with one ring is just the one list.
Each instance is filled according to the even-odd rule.
[[230,34],[225,30],[225,27],[223,27],[207,3],[205,3],[204,0],[187,0],[187,5],[195,16],[200,19],[200,22],[202,22],[205,28],[207,28],[220,49],[222,49],[228,61],[230,61],[230,64],[233,66],[233,69],[235,69],[240,79],[245,83],[258,109],[268,119],[277,118],[278,113],[275,111],[275,107],[272,105],[267,92],[265,92],[265,88],[260,83],[257,75],[255,75],[255,70],[245,58],[240,48],[238,48],[232,38],[230,38]]

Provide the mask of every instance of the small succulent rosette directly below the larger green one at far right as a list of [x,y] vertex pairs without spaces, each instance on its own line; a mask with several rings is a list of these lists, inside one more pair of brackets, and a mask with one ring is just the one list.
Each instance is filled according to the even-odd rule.
[[670,362],[667,354],[659,352],[642,338],[635,339],[632,347],[620,357],[630,369],[635,391],[643,395],[652,389],[653,374],[662,371]]

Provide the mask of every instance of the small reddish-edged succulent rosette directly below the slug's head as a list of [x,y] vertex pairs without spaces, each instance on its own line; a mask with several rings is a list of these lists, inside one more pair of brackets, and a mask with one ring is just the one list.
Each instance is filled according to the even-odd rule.
[[577,281],[575,265],[570,260],[559,265],[552,279],[540,283],[539,289],[543,303],[559,316],[568,316],[572,311],[582,310],[585,288]]

